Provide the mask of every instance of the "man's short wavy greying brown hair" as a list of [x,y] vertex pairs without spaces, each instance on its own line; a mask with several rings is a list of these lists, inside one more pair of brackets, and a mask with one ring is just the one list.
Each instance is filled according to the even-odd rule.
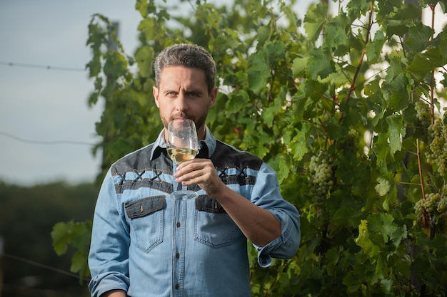
[[165,48],[154,62],[155,83],[160,84],[161,71],[169,66],[184,66],[198,68],[204,71],[208,93],[211,93],[216,83],[216,63],[211,54],[201,46],[194,44],[176,44]]

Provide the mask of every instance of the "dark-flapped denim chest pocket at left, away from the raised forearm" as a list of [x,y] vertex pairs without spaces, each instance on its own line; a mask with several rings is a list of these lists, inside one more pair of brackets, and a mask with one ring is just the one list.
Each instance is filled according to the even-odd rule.
[[131,220],[132,233],[139,249],[149,252],[163,241],[164,196],[147,197],[125,205],[126,214]]

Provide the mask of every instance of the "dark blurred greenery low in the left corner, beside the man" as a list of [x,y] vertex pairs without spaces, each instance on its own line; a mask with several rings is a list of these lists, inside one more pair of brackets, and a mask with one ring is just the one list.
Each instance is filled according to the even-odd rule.
[[1,296],[89,296],[88,288],[79,286],[79,276],[68,271],[74,249],[58,256],[51,249],[50,232],[58,222],[91,220],[97,194],[95,184],[21,187],[0,182]]

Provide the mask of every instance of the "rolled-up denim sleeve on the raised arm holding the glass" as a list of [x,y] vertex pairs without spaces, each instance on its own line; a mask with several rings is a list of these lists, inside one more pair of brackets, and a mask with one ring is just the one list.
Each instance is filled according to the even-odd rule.
[[251,201],[258,207],[268,209],[281,223],[280,237],[265,246],[253,244],[258,251],[258,264],[268,267],[271,265],[271,257],[278,259],[293,257],[301,241],[298,209],[281,197],[276,172],[266,163],[263,163],[256,177]]

